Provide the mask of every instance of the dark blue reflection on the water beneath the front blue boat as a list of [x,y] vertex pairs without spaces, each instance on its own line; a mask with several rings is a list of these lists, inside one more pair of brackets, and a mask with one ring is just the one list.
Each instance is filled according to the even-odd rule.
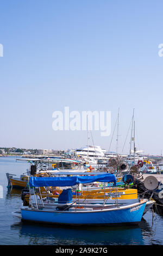
[[126,227],[61,227],[59,225],[17,223],[21,240],[28,245],[143,245],[141,228]]

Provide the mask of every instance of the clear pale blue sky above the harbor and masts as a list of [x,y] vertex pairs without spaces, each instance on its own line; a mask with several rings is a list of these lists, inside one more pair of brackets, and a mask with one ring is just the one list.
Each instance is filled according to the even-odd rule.
[[[162,8],[161,0],[2,0],[0,147],[82,147],[87,132],[54,131],[53,112],[111,111],[113,131],[120,107],[118,150],[135,108],[137,148],[160,155]],[[111,136],[92,135],[109,149]]]

